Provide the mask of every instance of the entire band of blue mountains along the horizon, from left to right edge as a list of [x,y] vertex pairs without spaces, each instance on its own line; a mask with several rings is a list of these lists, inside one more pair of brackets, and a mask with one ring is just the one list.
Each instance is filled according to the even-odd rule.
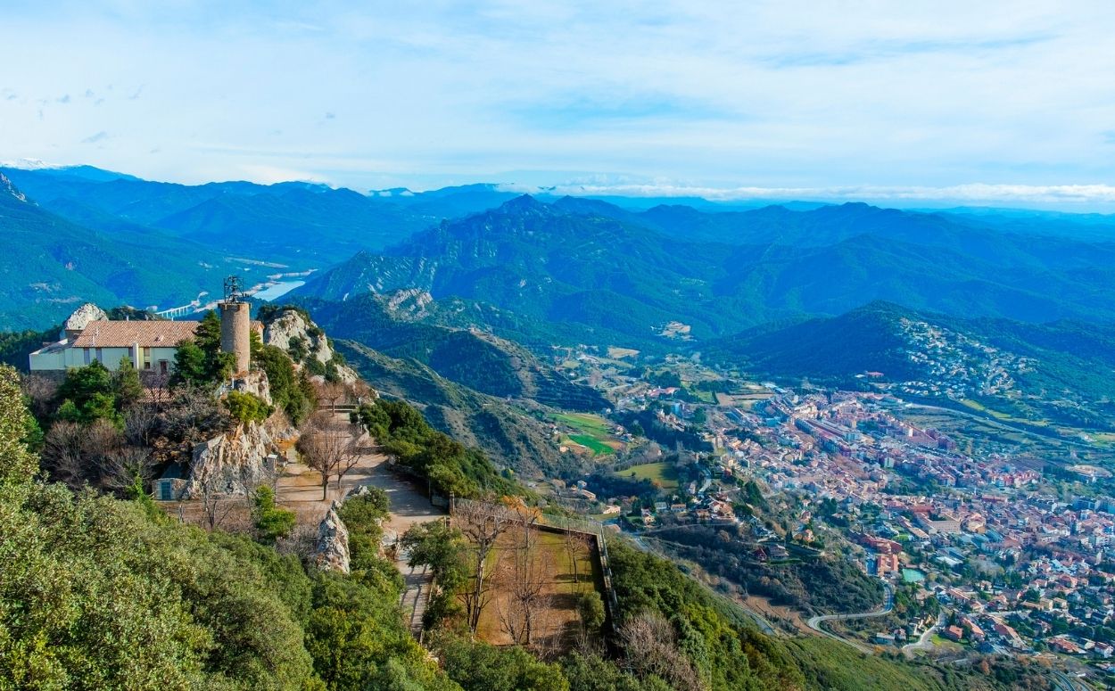
[[[700,341],[872,300],[1032,322],[1115,319],[1106,216],[733,210],[545,189],[544,203],[494,184],[365,195],[314,183],[156,183],[88,166],[0,172],[49,218],[8,257],[30,270],[0,272],[0,327],[42,328],[74,300],[178,306],[217,294],[230,273],[258,283],[310,269],[319,272],[303,294],[417,288],[518,320],[514,338],[532,346],[560,335],[669,348],[661,334],[681,332],[668,324]],[[0,232],[28,223],[7,217]],[[57,251],[35,250],[43,243]],[[89,247],[89,261],[69,261],[65,247]],[[117,269],[84,274],[101,264]],[[143,278],[156,266],[173,275]]]

